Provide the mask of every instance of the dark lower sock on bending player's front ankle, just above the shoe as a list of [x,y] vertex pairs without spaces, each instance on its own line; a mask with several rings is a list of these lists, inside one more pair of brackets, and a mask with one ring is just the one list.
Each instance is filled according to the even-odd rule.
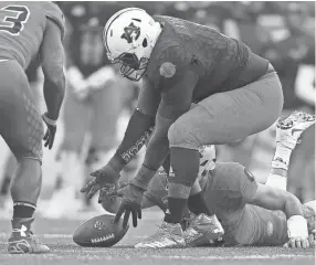
[[164,221],[167,223],[181,223],[187,209],[187,200],[168,197],[168,209],[165,212]]

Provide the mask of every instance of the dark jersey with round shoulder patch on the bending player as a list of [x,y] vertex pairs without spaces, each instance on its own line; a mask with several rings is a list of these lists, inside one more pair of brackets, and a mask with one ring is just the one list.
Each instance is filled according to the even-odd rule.
[[[245,44],[209,26],[170,17],[154,18],[161,23],[162,32],[146,74],[152,86],[166,92],[183,80],[187,72],[193,72],[198,82],[192,102],[199,102],[250,83],[240,78],[252,54]],[[260,57],[257,77],[265,74],[267,63]]]

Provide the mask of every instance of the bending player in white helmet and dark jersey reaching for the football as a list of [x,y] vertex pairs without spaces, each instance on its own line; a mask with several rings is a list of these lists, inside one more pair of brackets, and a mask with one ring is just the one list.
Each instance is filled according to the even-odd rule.
[[[137,225],[143,193],[170,152],[175,176],[169,179],[159,246],[183,246],[180,222],[198,177],[199,148],[233,142],[274,124],[283,107],[280,80],[270,62],[242,42],[181,19],[151,18],[140,9],[115,13],[105,25],[104,42],[122,74],[134,81],[144,77],[144,85],[116,155],[82,191],[92,197],[116,183],[155,126],[116,220],[125,213],[127,225],[131,214]],[[203,198],[196,200],[201,213],[211,215]]]

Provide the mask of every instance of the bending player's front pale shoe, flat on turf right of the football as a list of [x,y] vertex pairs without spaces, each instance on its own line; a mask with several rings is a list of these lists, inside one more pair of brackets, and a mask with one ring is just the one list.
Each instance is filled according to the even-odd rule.
[[185,246],[186,241],[181,225],[165,221],[154,235],[135,245],[136,248],[179,248]]

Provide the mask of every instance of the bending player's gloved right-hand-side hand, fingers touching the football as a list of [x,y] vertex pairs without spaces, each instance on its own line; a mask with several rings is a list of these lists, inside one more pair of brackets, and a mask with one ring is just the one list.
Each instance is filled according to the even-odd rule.
[[141,219],[141,200],[145,191],[134,184],[128,184],[124,189],[122,203],[114,222],[117,223],[124,213],[123,227],[125,229],[131,214],[133,226],[136,227],[137,219]]

